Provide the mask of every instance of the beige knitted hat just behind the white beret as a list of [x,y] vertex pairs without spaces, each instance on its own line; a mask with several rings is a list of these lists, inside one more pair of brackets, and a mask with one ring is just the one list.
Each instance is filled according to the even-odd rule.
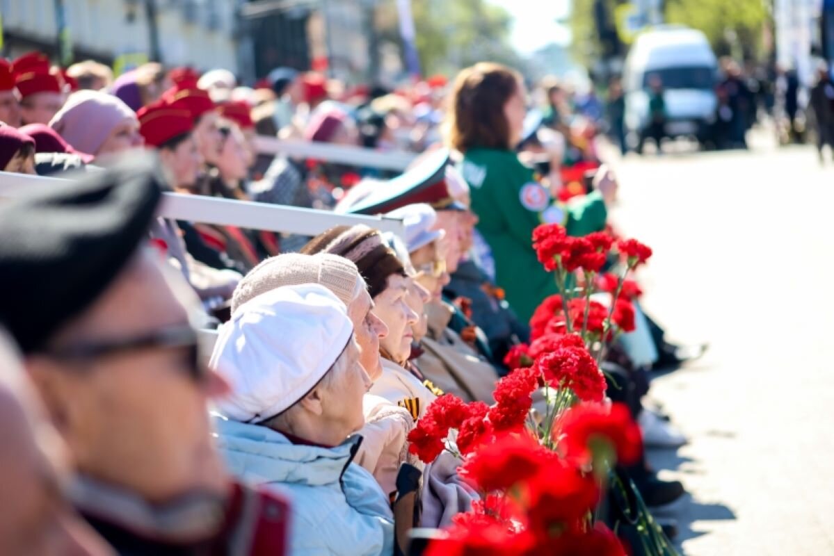
[[321,284],[347,307],[353,301],[358,279],[356,265],[344,257],[329,253],[284,253],[264,260],[244,276],[232,294],[232,313],[261,293],[303,283]]

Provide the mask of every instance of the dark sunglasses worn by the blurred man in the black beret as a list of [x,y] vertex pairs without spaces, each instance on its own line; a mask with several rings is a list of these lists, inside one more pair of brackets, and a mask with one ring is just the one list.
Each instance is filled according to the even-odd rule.
[[145,349],[177,349],[187,351],[186,361],[188,376],[194,382],[202,382],[208,377],[208,369],[200,364],[197,333],[188,324],[178,324],[159,328],[151,333],[133,338],[122,338],[98,343],[77,343],[63,348],[48,348],[44,355],[67,361],[87,361],[103,357],[112,357]]

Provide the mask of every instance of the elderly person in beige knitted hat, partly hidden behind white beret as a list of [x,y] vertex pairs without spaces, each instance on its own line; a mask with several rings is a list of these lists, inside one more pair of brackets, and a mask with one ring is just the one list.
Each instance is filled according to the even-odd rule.
[[[374,302],[364,279],[359,276],[356,265],[346,258],[327,253],[286,253],[268,258],[239,283],[232,298],[232,312],[261,293],[303,283],[323,285],[347,306],[359,344],[359,364],[371,380],[378,379],[382,374],[379,339],[388,334],[388,328],[371,311]],[[354,461],[374,474],[384,492],[392,493],[396,490],[401,463],[420,466],[409,455],[405,443],[414,420],[403,408],[373,394],[364,395],[363,406],[365,423],[359,430],[363,442]]]

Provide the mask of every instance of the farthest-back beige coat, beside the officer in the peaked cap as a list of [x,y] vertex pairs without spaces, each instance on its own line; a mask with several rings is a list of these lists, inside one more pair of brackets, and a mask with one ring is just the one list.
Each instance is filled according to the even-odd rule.
[[424,352],[414,360],[420,373],[436,388],[453,393],[465,402],[493,403],[498,374],[458,333],[447,328],[453,309],[431,303],[426,305],[426,313],[429,333],[420,343]]

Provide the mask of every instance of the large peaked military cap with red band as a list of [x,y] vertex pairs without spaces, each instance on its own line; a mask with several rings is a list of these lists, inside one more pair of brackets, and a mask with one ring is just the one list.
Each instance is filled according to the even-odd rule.
[[450,167],[450,151],[440,148],[418,158],[396,178],[380,182],[368,196],[361,198],[344,212],[354,214],[389,213],[409,204],[426,203],[435,210],[466,208],[451,196],[446,173]]

